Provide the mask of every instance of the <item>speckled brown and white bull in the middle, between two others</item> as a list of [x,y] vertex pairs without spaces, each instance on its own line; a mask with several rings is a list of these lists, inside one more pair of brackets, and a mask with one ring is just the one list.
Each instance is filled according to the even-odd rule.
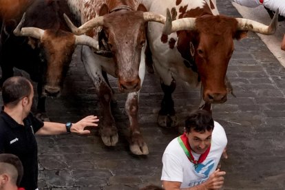
[[118,142],[118,130],[111,113],[113,92],[107,82],[107,74],[118,78],[118,89],[127,92],[125,110],[129,117],[129,147],[133,154],[148,154],[138,125],[138,96],[145,77],[145,27],[147,22],[165,23],[165,17],[146,12],[137,0],[69,0],[73,12],[84,25],[74,28],[75,34],[86,33],[98,39],[102,52],[110,51],[109,57],[94,54],[83,46],[85,69],[95,85],[101,103],[101,138],[105,145]]

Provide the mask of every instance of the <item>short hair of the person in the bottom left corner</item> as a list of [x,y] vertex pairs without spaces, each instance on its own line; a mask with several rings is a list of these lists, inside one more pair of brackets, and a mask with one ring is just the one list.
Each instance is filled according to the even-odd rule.
[[[20,182],[23,177],[23,165],[22,165],[21,160],[18,158],[18,156],[14,154],[0,154],[0,165],[1,163],[12,165],[13,167],[17,169],[18,171],[17,177],[15,178],[11,176],[11,178],[12,180],[14,180],[14,182],[16,182],[17,186],[19,187]],[[1,168],[0,168],[0,172],[2,172]]]

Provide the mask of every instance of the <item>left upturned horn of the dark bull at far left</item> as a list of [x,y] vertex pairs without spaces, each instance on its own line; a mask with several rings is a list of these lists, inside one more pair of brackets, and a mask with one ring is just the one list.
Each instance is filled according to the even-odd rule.
[[43,33],[45,32],[45,30],[42,30],[40,28],[34,28],[34,27],[22,28],[24,21],[25,21],[25,13],[23,14],[23,17],[19,25],[17,25],[17,28],[15,28],[13,32],[14,35],[15,36],[30,36],[35,39],[41,39],[41,36],[43,36]]

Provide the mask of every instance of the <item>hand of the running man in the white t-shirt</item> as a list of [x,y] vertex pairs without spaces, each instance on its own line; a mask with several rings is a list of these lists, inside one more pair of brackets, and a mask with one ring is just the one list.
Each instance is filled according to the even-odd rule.
[[226,175],[225,171],[220,171],[220,169],[217,169],[204,183],[204,186],[206,189],[221,189],[222,185],[224,184],[224,175]]

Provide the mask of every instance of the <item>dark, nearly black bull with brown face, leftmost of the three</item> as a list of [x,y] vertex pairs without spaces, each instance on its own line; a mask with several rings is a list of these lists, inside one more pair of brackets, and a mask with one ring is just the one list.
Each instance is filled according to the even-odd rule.
[[[32,81],[38,83],[37,109],[43,114],[45,96],[56,97],[61,93],[76,44],[96,48],[98,43],[89,36],[74,35],[67,27],[63,13],[72,14],[66,0],[3,0],[1,3],[1,83],[13,76],[13,67],[28,72]],[[8,6],[9,3],[14,4]],[[25,19],[19,23],[23,12],[26,12]],[[13,30],[17,23],[15,36]]]

